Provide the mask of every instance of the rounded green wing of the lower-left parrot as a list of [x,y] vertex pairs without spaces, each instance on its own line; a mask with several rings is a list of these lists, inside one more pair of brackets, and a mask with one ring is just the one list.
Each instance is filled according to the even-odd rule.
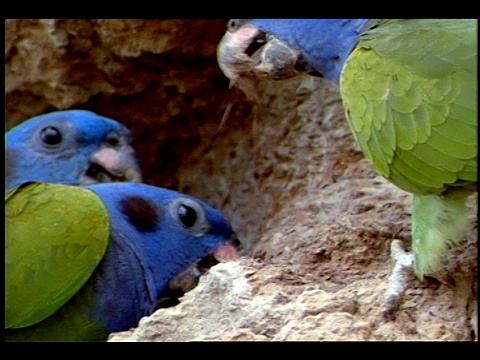
[[93,192],[76,186],[26,183],[5,200],[5,328],[21,328],[85,284],[105,254],[109,218]]

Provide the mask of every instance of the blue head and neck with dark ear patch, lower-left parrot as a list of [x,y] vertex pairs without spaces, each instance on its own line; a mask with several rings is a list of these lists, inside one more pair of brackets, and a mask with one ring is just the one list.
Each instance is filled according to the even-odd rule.
[[[194,197],[138,183],[86,188],[102,199],[111,223],[111,246],[102,273],[114,275],[102,277],[104,284],[95,286],[103,289],[95,308],[115,306],[112,313],[122,314],[97,320],[107,323],[109,331],[135,326],[141,316],[154,311],[175,275],[234,241],[226,217]],[[114,305],[101,305],[108,303]]]

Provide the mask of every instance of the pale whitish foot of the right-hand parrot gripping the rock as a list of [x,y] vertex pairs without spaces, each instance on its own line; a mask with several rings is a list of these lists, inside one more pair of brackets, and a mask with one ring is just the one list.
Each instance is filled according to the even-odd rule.
[[413,272],[414,254],[403,249],[400,240],[393,240],[390,244],[390,256],[395,260],[395,266],[388,279],[386,292],[386,308],[383,311],[385,318],[393,320],[400,303],[400,298],[408,284],[408,277]]

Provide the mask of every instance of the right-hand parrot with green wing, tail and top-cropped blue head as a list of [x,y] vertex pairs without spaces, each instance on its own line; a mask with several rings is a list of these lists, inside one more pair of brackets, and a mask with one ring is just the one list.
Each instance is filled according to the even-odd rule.
[[472,229],[477,33],[476,19],[232,19],[217,58],[245,92],[250,79],[304,73],[339,86],[366,158],[413,194],[413,266],[423,279]]

